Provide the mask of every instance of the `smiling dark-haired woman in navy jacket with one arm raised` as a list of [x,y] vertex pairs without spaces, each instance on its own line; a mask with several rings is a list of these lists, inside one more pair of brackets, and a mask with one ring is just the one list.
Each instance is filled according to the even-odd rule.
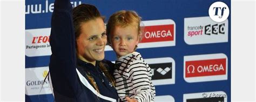
[[89,4],[72,10],[70,0],[54,6],[49,69],[55,101],[117,101],[111,62],[103,60],[107,39],[99,11]]

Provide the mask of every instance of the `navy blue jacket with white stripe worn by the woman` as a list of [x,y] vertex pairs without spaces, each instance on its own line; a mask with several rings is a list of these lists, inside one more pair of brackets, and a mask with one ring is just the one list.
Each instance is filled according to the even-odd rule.
[[[55,101],[117,101],[116,89],[96,66],[77,59],[75,32],[70,0],[56,0],[51,21],[50,45],[52,55],[49,70]],[[102,61],[107,68],[112,63]],[[99,92],[92,87],[86,76],[90,72]],[[111,73],[112,74],[112,73]]]

